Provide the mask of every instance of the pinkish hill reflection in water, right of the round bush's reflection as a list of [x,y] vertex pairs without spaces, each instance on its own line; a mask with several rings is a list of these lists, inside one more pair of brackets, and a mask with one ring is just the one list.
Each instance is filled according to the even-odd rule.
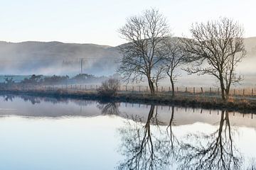
[[[123,107],[122,107],[123,106]],[[156,106],[159,112],[159,120],[164,123],[164,125],[169,124],[169,119],[171,118],[171,106]],[[146,122],[146,109],[149,106],[122,103],[119,111],[122,113],[121,116],[134,116],[140,115],[142,120]],[[127,111],[129,110],[129,111]],[[174,125],[189,125],[197,122],[208,123],[210,125],[215,125],[220,119],[221,111],[210,111],[203,109],[193,109],[193,108],[179,108],[174,107],[176,115],[174,115]],[[228,113],[230,115],[230,124],[238,126],[246,126],[256,128],[256,120],[253,118],[252,114],[241,114],[241,113]]]

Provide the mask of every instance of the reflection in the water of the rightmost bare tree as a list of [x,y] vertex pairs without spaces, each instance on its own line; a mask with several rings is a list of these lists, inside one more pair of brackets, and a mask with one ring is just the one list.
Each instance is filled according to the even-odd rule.
[[179,169],[240,169],[241,155],[235,148],[228,111],[222,111],[215,132],[188,135],[180,147]]

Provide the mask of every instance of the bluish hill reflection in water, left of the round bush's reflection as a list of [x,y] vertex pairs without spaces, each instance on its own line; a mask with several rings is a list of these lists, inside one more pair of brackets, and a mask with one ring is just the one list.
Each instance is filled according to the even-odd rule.
[[1,96],[0,115],[21,115],[28,117],[96,116],[100,111],[95,101],[63,98],[42,98],[34,96]]

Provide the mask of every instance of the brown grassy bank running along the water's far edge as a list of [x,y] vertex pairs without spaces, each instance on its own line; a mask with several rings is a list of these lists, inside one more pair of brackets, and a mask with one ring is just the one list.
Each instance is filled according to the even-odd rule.
[[[223,103],[218,89],[214,88],[178,88],[176,96],[166,87],[155,95],[149,94],[146,87],[121,86],[116,96],[102,98],[97,94],[98,85],[59,85],[59,86],[23,86],[2,89],[4,94],[26,94],[31,96],[50,96],[55,98],[81,98],[105,102],[131,102],[185,106],[191,108],[210,108],[216,110],[238,111],[240,113],[256,113],[256,95],[251,89],[235,89],[235,95],[227,103]],[[203,89],[203,91],[202,91]],[[251,94],[249,93],[251,92]],[[243,95],[244,94],[244,95]]]

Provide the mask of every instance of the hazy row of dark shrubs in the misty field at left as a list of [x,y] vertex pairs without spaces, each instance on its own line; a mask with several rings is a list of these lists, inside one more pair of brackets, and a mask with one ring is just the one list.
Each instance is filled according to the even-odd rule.
[[[114,74],[113,77],[117,78],[119,75]],[[13,77],[4,78],[4,82],[0,83],[1,86],[9,86],[9,85],[58,85],[58,84],[92,84],[92,83],[101,83],[109,79],[110,77],[96,77],[92,74],[77,74],[75,77],[65,76],[43,76],[33,74],[31,77],[24,78],[21,81],[15,81]]]

